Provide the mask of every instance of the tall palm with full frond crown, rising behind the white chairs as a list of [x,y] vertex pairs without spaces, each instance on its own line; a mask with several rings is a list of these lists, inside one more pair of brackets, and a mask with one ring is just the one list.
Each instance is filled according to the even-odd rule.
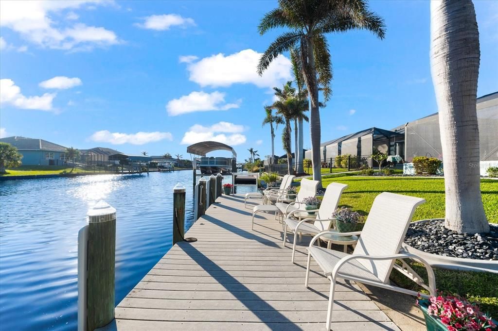
[[313,179],[321,184],[319,86],[325,100],[332,93],[332,65],[326,34],[367,29],[383,39],[385,26],[382,18],[368,10],[367,0],[279,0],[278,7],[261,19],[258,31],[262,35],[273,28],[285,27],[290,31],[279,35],[268,46],[259,60],[257,72],[262,75],[273,59],[298,46],[311,103]]

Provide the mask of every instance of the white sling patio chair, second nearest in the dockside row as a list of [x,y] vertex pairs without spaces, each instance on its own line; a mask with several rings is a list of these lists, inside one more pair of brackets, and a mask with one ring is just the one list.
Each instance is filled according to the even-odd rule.
[[[283,231],[283,246],[285,247],[285,241],[287,240],[287,230],[294,234],[294,244],[292,245],[292,263],[294,263],[294,255],[296,253],[296,240],[297,235],[302,234],[316,235],[323,230],[329,230],[332,227],[332,213],[337,208],[339,200],[341,199],[342,192],[346,189],[348,185],[340,183],[330,183],[325,189],[325,195],[323,196],[322,204],[319,209],[307,210],[307,212],[316,211],[316,218],[306,218],[301,221],[292,219],[292,215],[301,210],[293,210],[285,219],[285,226]],[[313,221],[313,224],[307,221]]]

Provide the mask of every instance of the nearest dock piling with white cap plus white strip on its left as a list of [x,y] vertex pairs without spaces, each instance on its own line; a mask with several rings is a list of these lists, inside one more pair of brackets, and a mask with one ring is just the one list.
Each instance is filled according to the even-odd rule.
[[[108,325],[114,320],[115,307],[116,209],[105,201],[99,201],[87,216],[88,226],[78,233],[79,331]],[[87,249],[80,251],[80,248]]]

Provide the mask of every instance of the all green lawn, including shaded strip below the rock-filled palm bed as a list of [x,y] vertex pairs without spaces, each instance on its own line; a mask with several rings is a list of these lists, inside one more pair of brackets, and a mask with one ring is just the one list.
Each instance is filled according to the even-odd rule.
[[[445,188],[443,178],[410,178],[410,177],[367,177],[355,176],[354,173],[330,174],[322,177],[326,187],[331,182],[348,184],[344,191],[340,206],[348,206],[364,215],[372,207],[373,199],[381,192],[393,192],[424,198],[413,220],[428,218],[444,218]],[[483,204],[488,221],[498,223],[498,181],[481,179]],[[412,268],[427,279],[425,268],[416,262],[410,263]],[[498,275],[485,272],[455,271],[434,268],[438,290],[445,294],[456,294],[466,297],[471,302],[480,304],[484,312],[498,317]],[[402,287],[420,291],[421,287],[410,281],[398,271],[390,277]],[[427,293],[427,292],[426,292]]]

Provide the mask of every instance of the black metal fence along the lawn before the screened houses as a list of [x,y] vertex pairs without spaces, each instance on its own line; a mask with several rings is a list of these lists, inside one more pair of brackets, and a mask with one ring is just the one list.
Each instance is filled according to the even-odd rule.
[[[300,165],[302,165],[302,172],[298,171],[300,169]],[[364,155],[364,156],[352,156],[352,155],[340,155],[335,158],[330,159],[322,159],[320,162],[321,172],[322,174],[328,173],[338,173],[338,172],[347,172],[347,171],[355,171],[365,168],[371,168],[372,166],[376,166],[377,163],[372,160],[372,156]],[[288,173],[288,165],[287,164],[277,164],[277,165],[265,165],[264,171],[266,172],[276,172],[280,175],[284,175]],[[306,161],[304,163],[298,163],[292,165],[293,173],[298,174],[313,174],[313,166],[311,165],[311,161]]]

